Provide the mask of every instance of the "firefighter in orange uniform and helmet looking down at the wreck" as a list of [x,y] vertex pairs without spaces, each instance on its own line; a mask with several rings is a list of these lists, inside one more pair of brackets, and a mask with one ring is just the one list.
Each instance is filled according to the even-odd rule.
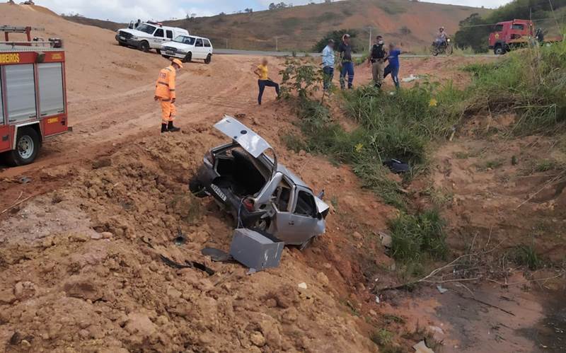
[[173,126],[177,114],[175,108],[175,76],[177,71],[183,69],[179,59],[173,59],[171,65],[159,72],[155,86],[155,100],[161,103],[161,132],[178,132],[180,129]]

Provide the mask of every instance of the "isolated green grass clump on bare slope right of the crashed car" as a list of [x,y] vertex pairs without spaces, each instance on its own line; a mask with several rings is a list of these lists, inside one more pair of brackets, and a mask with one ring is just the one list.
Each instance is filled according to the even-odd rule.
[[393,238],[391,255],[395,260],[444,260],[448,255],[444,220],[437,210],[428,210],[417,215],[401,213],[390,221],[389,229]]

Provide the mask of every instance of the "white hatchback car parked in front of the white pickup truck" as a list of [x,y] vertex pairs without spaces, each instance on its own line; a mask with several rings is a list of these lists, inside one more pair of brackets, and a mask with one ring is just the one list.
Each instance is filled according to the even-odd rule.
[[212,61],[212,43],[208,38],[179,35],[172,42],[165,42],[161,45],[161,55],[167,59],[176,57],[183,62],[199,59],[210,64]]

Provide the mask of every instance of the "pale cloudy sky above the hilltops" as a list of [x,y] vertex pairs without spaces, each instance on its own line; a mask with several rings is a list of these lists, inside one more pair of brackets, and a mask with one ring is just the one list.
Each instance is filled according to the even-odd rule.
[[[314,0],[323,2],[322,0]],[[427,0],[421,0],[427,1]],[[510,0],[436,0],[441,4],[457,4],[465,6],[485,6],[496,8]],[[187,13],[197,16],[212,16],[217,13],[232,13],[253,8],[263,10],[274,0],[36,0],[35,3],[47,6],[57,13],[80,13],[83,16],[110,19],[126,22],[130,19],[141,18],[165,20],[169,18],[184,18]],[[307,4],[310,0],[284,1],[294,5]]]

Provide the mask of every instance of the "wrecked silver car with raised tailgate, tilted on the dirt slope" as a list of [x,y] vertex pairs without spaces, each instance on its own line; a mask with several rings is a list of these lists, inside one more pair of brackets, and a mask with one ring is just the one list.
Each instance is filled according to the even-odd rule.
[[189,183],[195,195],[212,195],[233,215],[237,228],[265,231],[289,245],[306,246],[324,233],[328,204],[277,163],[265,139],[229,116],[214,127],[232,142],[204,156]]

